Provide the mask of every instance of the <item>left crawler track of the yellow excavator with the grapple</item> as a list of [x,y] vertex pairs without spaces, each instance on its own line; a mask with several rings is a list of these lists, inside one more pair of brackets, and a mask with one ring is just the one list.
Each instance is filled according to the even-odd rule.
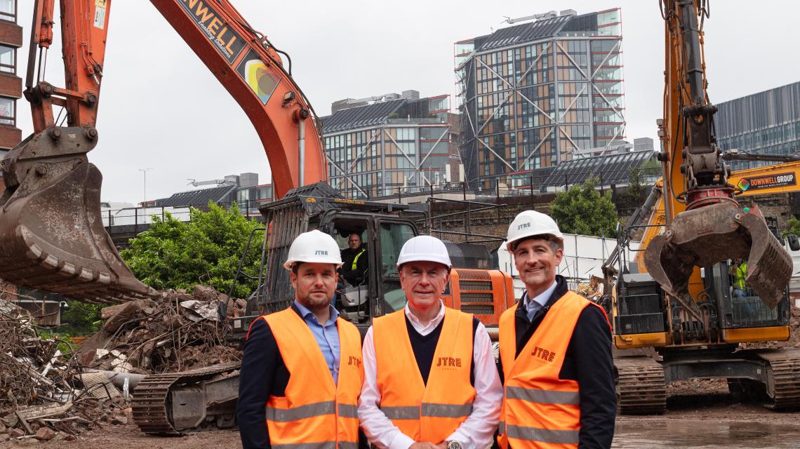
[[664,368],[647,356],[614,359],[619,412],[654,415],[666,411]]

